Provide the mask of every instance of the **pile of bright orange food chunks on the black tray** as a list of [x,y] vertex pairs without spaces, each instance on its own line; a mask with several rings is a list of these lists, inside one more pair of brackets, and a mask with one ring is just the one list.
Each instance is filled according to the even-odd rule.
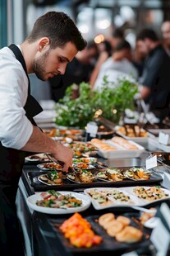
[[76,247],[91,247],[99,244],[102,237],[95,235],[91,229],[90,222],[85,220],[79,213],[75,213],[68,220],[65,220],[59,227],[64,236]]

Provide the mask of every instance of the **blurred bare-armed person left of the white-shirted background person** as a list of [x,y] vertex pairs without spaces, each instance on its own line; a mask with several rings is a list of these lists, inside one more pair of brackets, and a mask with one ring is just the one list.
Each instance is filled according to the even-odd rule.
[[93,86],[96,78],[99,74],[99,69],[101,65],[113,54],[112,45],[108,40],[103,40],[98,45],[99,48],[99,57],[95,63],[94,69],[90,75],[90,84]]

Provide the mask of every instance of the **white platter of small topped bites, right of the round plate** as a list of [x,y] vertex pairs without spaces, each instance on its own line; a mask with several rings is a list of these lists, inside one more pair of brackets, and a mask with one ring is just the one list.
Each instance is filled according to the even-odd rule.
[[[86,188],[84,192],[90,197],[96,210],[109,207],[147,206],[155,201],[170,199],[170,191],[160,187],[91,187]],[[146,197],[147,192],[151,196]]]

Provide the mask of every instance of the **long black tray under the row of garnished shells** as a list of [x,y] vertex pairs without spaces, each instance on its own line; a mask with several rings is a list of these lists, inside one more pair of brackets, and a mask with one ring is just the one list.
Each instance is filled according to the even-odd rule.
[[[121,169],[121,168],[120,168]],[[125,169],[125,168],[123,168]],[[95,170],[96,172],[97,170]],[[101,171],[101,169],[99,169]],[[128,187],[128,186],[147,186],[151,184],[159,184],[163,179],[162,177],[157,174],[151,174],[149,180],[131,180],[126,178],[123,181],[118,182],[105,182],[99,179],[96,179],[93,183],[74,183],[68,180],[67,178],[64,179],[63,184],[61,185],[46,185],[44,183],[39,182],[38,178],[39,175],[46,174],[48,171],[37,171],[37,170],[30,170],[28,172],[24,172],[25,179],[28,181],[31,187],[34,188],[35,192],[42,192],[47,191],[49,189],[60,189],[60,190],[83,190],[88,187]]]

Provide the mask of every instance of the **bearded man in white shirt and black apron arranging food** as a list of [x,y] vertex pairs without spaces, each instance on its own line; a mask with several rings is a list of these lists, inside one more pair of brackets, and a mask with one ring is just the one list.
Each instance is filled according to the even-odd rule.
[[72,166],[73,151],[45,135],[34,116],[42,111],[30,95],[28,73],[45,81],[63,74],[67,64],[86,41],[75,23],[63,12],[47,12],[34,23],[21,45],[0,50],[0,251],[24,255],[16,216],[16,191],[25,152],[49,152]]

